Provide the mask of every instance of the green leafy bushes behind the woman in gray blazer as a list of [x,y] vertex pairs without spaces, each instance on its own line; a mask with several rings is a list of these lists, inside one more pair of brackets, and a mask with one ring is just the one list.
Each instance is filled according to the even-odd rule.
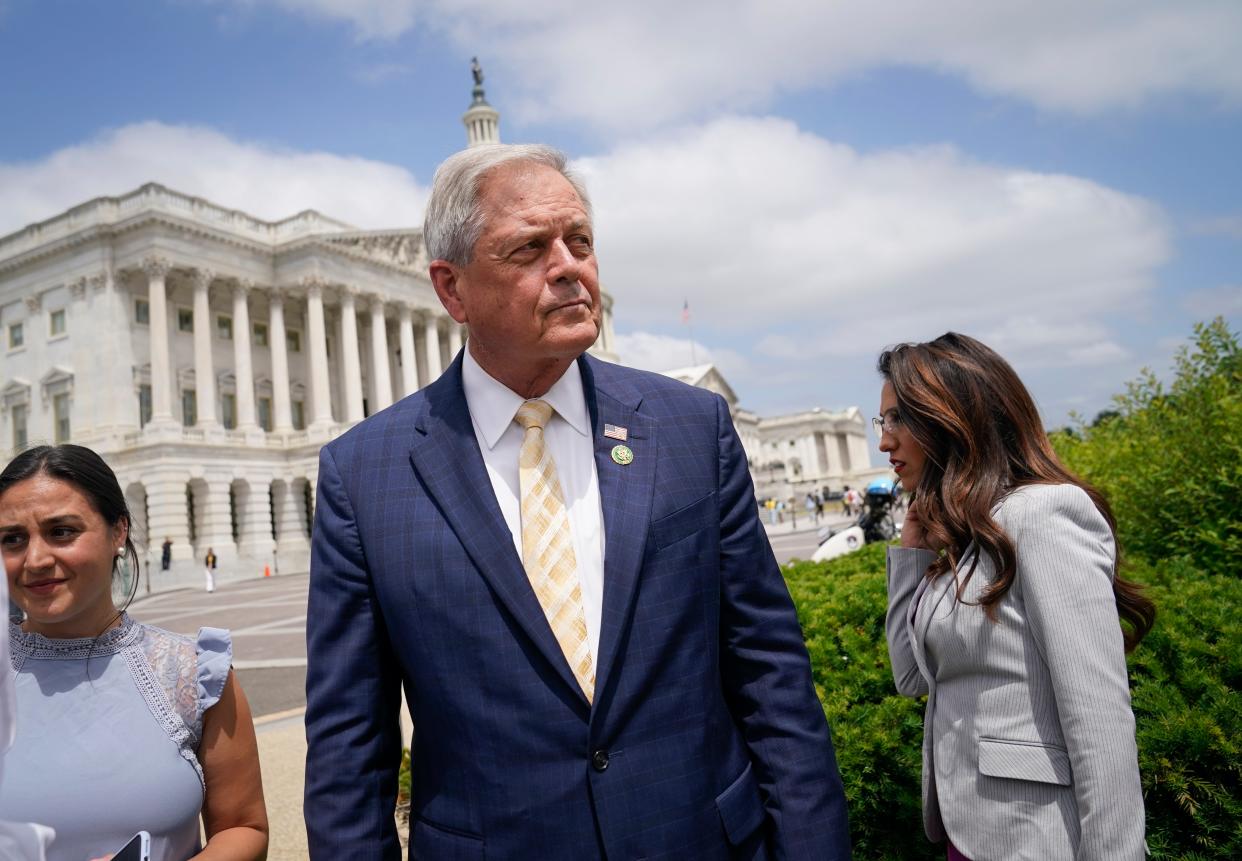
[[[1129,658],[1153,859],[1242,857],[1242,359],[1195,329],[1169,390],[1144,374],[1059,453],[1118,516],[1156,626]],[[940,859],[923,835],[923,702],[895,693],[884,548],[785,569],[832,724],[859,859]]]

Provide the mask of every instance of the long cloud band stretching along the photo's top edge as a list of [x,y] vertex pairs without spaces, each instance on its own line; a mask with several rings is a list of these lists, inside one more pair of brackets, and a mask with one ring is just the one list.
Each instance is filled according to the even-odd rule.
[[763,107],[889,66],[1074,113],[1170,93],[1242,101],[1236,0],[217,1],[345,20],[361,39],[421,21],[498,65],[520,116],[612,129]]

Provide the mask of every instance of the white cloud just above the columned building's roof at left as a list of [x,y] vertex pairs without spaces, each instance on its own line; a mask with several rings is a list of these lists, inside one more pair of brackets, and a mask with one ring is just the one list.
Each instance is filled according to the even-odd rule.
[[238,142],[193,125],[138,123],[29,163],[0,163],[0,234],[143,183],[261,219],[315,209],[359,227],[422,224],[427,190],[383,162]]

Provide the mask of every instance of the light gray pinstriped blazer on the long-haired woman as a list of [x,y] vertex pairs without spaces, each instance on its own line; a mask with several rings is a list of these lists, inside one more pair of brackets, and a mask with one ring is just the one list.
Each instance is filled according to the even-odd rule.
[[928,837],[950,839],[971,861],[1141,859],[1108,524],[1073,485],[1022,487],[992,514],[1017,552],[996,622],[977,606],[995,574],[987,557],[959,603],[956,573],[923,576],[933,553],[888,550],[893,680],[905,696],[928,697]]

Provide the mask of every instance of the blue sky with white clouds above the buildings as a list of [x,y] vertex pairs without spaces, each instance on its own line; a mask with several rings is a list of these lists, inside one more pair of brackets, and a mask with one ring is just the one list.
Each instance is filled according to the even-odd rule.
[[578,159],[622,359],[874,410],[948,328],[1049,425],[1242,319],[1242,5],[0,0],[0,234],[155,180],[420,222],[469,57]]

